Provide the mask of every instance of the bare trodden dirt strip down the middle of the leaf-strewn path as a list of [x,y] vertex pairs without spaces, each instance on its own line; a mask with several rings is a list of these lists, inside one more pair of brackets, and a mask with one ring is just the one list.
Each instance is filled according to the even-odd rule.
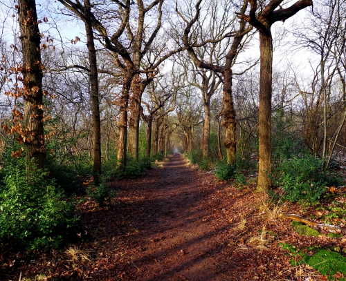
[[[212,257],[217,248],[203,199],[208,183],[172,155],[143,201],[143,224],[137,242],[143,251],[133,256],[138,280],[215,280],[220,271]],[[217,278],[220,279],[220,278]],[[220,279],[221,280],[221,279]]]

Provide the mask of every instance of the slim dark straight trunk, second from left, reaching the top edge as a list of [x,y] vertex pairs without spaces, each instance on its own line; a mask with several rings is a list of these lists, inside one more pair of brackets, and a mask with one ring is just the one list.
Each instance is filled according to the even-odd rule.
[[90,23],[91,8],[90,1],[84,0],[85,6],[85,31],[86,46],[89,50],[90,64],[90,83],[91,83],[91,110],[92,110],[92,126],[93,126],[93,178],[98,182],[98,176],[101,174],[101,119],[100,119],[100,103],[98,91],[98,65],[96,59],[95,44],[93,41],[93,28]]

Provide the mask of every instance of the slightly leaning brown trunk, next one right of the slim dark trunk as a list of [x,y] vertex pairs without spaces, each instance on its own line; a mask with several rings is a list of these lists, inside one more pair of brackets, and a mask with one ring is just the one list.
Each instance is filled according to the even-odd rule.
[[118,168],[125,168],[127,162],[126,146],[127,146],[127,109],[129,105],[129,91],[131,81],[134,78],[134,71],[127,71],[122,84],[122,93],[120,97],[119,109],[119,139],[118,139]]

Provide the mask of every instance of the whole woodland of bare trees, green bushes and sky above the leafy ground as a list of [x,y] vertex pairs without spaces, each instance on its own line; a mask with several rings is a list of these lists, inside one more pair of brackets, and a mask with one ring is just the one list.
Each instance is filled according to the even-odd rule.
[[343,185],[343,0],[1,1],[1,22],[3,245],[60,245],[73,194],[104,206],[169,153],[302,204]]

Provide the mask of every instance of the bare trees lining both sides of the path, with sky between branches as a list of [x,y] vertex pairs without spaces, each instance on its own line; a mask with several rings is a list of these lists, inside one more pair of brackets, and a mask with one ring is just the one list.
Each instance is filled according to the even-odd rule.
[[[55,45],[62,39],[43,39],[36,3],[28,0],[15,6],[21,42],[10,51],[8,38],[3,35],[1,41],[1,93],[8,97],[3,117],[11,120],[8,106],[14,108],[5,128],[25,144],[39,168],[48,148],[44,124],[51,144],[62,148],[53,151],[60,161],[92,155],[96,181],[102,153],[108,160],[114,147],[118,169],[126,168],[127,155],[140,160],[141,126],[148,157],[180,145],[188,153],[200,147],[207,159],[211,130],[217,155],[229,165],[237,155],[253,157],[249,146],[256,148],[258,137],[258,191],[271,187],[272,128],[280,135],[286,130],[282,122],[304,138],[313,155],[326,159],[323,168],[334,148],[344,146],[344,1],[315,3],[304,16],[308,26],[306,21],[290,24],[284,32],[290,48],[311,53],[305,76],[294,60],[273,75],[271,28],[312,6],[312,0],[287,7],[282,0],[59,2],[66,17],[84,24],[87,50],[78,48],[78,37],[70,48]],[[42,21],[49,23],[46,17]],[[257,34],[260,56],[251,57]],[[280,46],[280,38],[275,39]],[[281,123],[272,124],[272,117]]]

